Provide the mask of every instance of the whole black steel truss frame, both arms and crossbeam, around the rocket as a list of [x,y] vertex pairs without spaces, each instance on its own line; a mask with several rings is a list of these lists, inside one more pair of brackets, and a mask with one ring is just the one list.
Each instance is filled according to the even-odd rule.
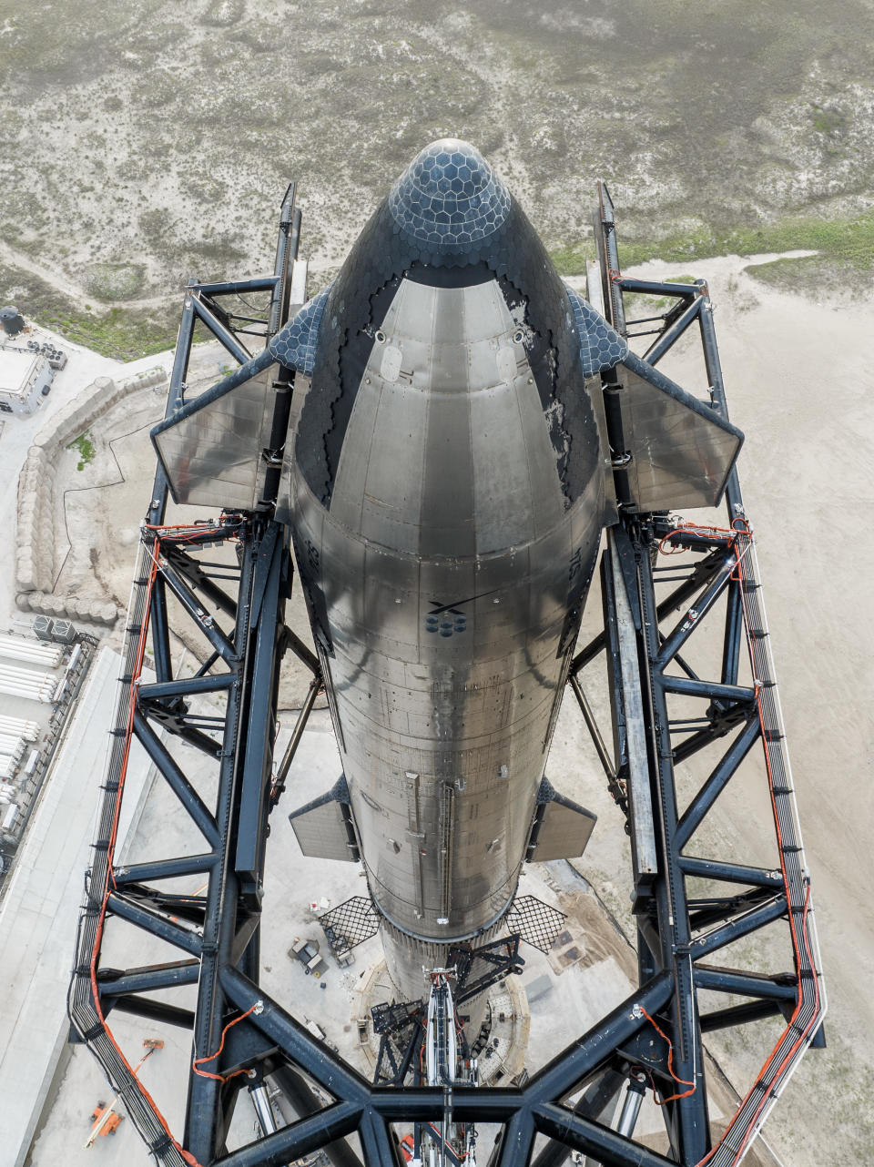
[[[267,337],[286,319],[300,225],[293,196],[289,189],[282,207],[272,277],[237,284],[191,285],[187,289],[168,412],[184,399],[196,321],[242,363],[247,352],[239,337],[253,331]],[[658,338],[648,358],[659,359],[697,321],[713,406],[725,411],[706,287],[700,282],[643,286],[622,279],[606,191],[597,228],[609,315],[615,327],[627,331],[622,299],[625,292],[655,292],[674,299],[676,307],[662,317]],[[230,307],[235,296],[252,293],[270,294],[270,306],[260,324],[254,317],[235,317]],[[732,476],[727,490],[729,523],[721,531],[674,529],[664,515],[635,515],[624,509],[609,537],[620,555],[627,591],[637,598],[636,643],[656,809],[658,871],[638,887],[637,896],[639,987],[523,1086],[460,1086],[449,1091],[448,1097],[443,1088],[375,1086],[315,1039],[258,983],[268,816],[285,788],[294,750],[322,684],[317,662],[285,627],[284,606],[293,566],[287,532],[273,520],[272,503],[278,489],[293,376],[280,372],[274,384],[277,407],[271,448],[265,450],[264,499],[256,511],[225,513],[209,524],[168,526],[167,481],[162,469],[158,470],[132,591],[117,721],[70,986],[74,1033],[97,1055],[154,1158],[165,1167],[278,1167],[317,1148],[326,1148],[338,1167],[354,1167],[359,1159],[347,1141],[352,1133],[357,1133],[365,1163],[400,1163],[393,1124],[439,1124],[447,1104],[455,1123],[489,1123],[503,1128],[491,1167],[531,1161],[537,1167],[554,1167],[572,1149],[609,1167],[736,1162],[798,1051],[817,1032],[824,1012],[807,879],[758,607],[754,552],[736,476]],[[621,435],[614,433],[613,438],[615,453],[621,454],[621,442],[616,445]],[[621,481],[618,487],[621,496]],[[653,571],[650,552],[665,540],[700,552],[701,558],[695,566],[684,566],[673,573],[680,576],[674,580],[677,586],[667,599],[659,600],[656,596],[659,573]],[[218,564],[204,558],[204,548],[216,546]],[[236,550],[232,558],[228,554],[230,547]],[[215,550],[209,554],[215,554]],[[604,580],[609,601],[613,586],[609,571],[604,572]],[[729,596],[723,649],[714,665],[715,679],[707,680],[684,664],[680,649],[722,593]],[[180,677],[173,670],[170,605],[175,606],[176,619],[187,621],[210,645],[207,661],[193,677]],[[660,623],[678,609],[684,615],[662,634]],[[748,634],[753,634],[751,641]],[[154,680],[142,677],[149,635]],[[753,686],[739,684],[739,662],[747,643],[751,647],[756,678]],[[628,812],[621,726],[614,756],[594,722],[581,682],[585,666],[604,647],[610,651],[609,628],[578,655],[569,684],[593,731],[614,797]],[[277,684],[287,648],[310,666],[313,684],[292,743],[273,775]],[[678,677],[669,673],[671,663],[679,664]],[[222,698],[222,718],[196,712],[197,696],[202,693]],[[708,703],[704,718],[694,722],[691,733],[685,732],[688,725],[671,718],[669,697],[673,700],[678,694],[700,697]],[[623,699],[620,683],[613,693],[615,708],[624,707]],[[210,799],[197,794],[158,735],[158,727],[179,735],[212,760],[216,775]],[[674,767],[728,733],[736,735],[728,750],[685,812],[680,812]],[[117,865],[114,840],[133,739],[147,750],[181,811],[203,837],[204,845],[197,854],[127,867]],[[734,859],[722,861],[685,854],[693,831],[757,739],[764,740],[775,822],[782,831],[779,868],[763,871],[740,866]],[[194,873],[203,874],[203,894],[162,890],[163,880]],[[692,878],[735,886],[727,896],[709,894],[695,899],[687,888]],[[755,929],[768,925],[785,929],[786,918],[792,937],[791,967],[741,972],[702,963],[702,957]],[[104,927],[113,920],[169,943],[180,950],[181,958],[135,969],[107,967],[102,962],[100,945]],[[194,1009],[167,1000],[173,990],[182,986],[189,986],[189,992],[190,986],[196,986]],[[749,1004],[702,1014],[698,994],[704,990],[739,994],[748,998]],[[162,995],[152,995],[156,992]],[[191,1029],[193,1065],[181,1137],[168,1130],[116,1043],[107,1023],[113,1009]],[[789,1036],[784,1036],[776,1058],[739,1109],[727,1135],[712,1149],[701,1035],[775,1012],[791,1016]],[[609,1125],[623,1085],[635,1082],[635,1089],[639,1089],[641,1068],[664,1103],[672,1147],[670,1159]],[[278,1130],[275,1123],[263,1123],[263,1138],[228,1151],[226,1132],[239,1090],[245,1086],[256,1092],[266,1077],[280,1086],[299,1119]],[[568,1103],[580,1091],[579,1100]],[[327,1105],[326,1096],[333,1099]],[[548,1141],[534,1155],[538,1135]]]

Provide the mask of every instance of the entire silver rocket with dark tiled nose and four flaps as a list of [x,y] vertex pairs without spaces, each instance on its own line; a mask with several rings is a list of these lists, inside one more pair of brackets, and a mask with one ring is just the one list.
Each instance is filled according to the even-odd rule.
[[[411,162],[263,354],[156,427],[177,501],[198,475],[221,501],[215,476],[251,459],[228,403],[277,363],[309,379],[278,515],[342,763],[292,825],[305,854],[363,865],[392,979],[420,998],[450,945],[505,927],[524,862],[590,834],[545,769],[614,467],[618,505],[712,504],[742,435],[561,282],[455,139]],[[221,401],[221,425],[191,425]]]

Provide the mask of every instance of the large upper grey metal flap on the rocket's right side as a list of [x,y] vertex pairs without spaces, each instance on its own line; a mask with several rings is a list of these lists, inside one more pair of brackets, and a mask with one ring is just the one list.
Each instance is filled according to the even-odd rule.
[[616,365],[615,376],[631,455],[623,469],[635,510],[715,506],[742,432],[634,352]]

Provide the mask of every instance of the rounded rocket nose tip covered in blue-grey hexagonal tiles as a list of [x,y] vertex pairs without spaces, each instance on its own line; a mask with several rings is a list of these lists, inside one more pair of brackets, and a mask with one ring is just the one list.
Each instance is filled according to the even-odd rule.
[[497,231],[510,210],[510,195],[478,149],[457,138],[441,138],[401,174],[389,207],[404,231],[457,253]]

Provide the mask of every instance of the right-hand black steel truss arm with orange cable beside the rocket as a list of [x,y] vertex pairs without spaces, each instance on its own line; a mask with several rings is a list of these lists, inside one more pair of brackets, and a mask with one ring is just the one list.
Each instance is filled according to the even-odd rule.
[[[613,205],[603,187],[595,232],[604,303],[614,327],[629,340],[655,333],[656,340],[644,358],[657,364],[690,327],[698,324],[711,405],[727,418],[706,284],[702,280],[685,285],[623,278],[618,270]],[[667,299],[670,306],[658,317],[627,321],[624,296],[628,293],[656,296],[662,302]],[[642,323],[657,323],[658,327],[639,330]],[[606,392],[609,396],[609,375]],[[636,513],[621,469],[627,461],[621,412],[610,411],[608,406],[607,417],[617,467],[621,515],[620,523],[608,532],[608,551],[602,562],[606,629],[579,651],[571,682],[593,731],[614,797],[630,817],[635,808],[623,725],[628,699],[621,670],[615,661],[611,662],[615,759],[603,745],[580,679],[585,666],[601,651],[606,650],[609,657],[618,652],[615,613],[617,589],[622,588],[635,624],[634,650],[639,661],[641,715],[646,738],[649,795],[656,818],[652,841],[658,866],[658,875],[652,880],[641,878],[635,889],[639,974],[643,983],[656,970],[672,970],[674,979],[674,994],[663,1013],[663,1022],[667,1022],[663,1028],[672,1042],[672,1072],[666,1077],[663,1065],[662,1082],[653,1075],[653,1086],[658,1086],[662,1095],[665,1124],[678,1161],[690,1165],[706,1161],[727,1167],[739,1161],[749,1147],[804,1049],[813,1041],[823,1041],[825,997],[810,879],[768,649],[755,548],[736,469],[730,471],[726,483],[728,522],[725,527],[684,524],[666,513]],[[697,555],[698,561],[687,554],[681,559],[681,567],[658,567],[657,553],[663,545],[674,552]],[[620,578],[616,578],[616,564]],[[667,595],[662,591],[665,584],[672,585]],[[705,649],[709,676],[702,677],[690,666],[681,650],[690,641],[692,648],[700,647],[714,622],[712,612],[722,598],[721,651],[714,654]],[[677,613],[680,613],[679,619]],[[747,685],[739,684],[744,652],[751,675]],[[678,715],[674,712],[678,698],[686,703],[690,698],[706,703],[704,715],[691,719]],[[728,747],[721,750],[708,777],[680,811],[677,777],[683,763],[720,739],[725,739]],[[695,832],[756,743],[761,743],[763,750],[764,777],[774,813],[774,867],[743,865],[734,854],[726,859],[687,854]],[[690,889],[690,880],[725,882],[733,887],[729,887],[730,894],[709,892],[702,897]],[[786,965],[778,971],[751,973],[700,963],[711,953],[721,952],[733,942],[769,925],[781,929]],[[771,936],[774,931],[770,927]],[[702,990],[750,1000],[701,1012],[698,995]],[[719,1146],[712,1147],[701,1034],[775,1014],[783,1014],[789,1025]]]

